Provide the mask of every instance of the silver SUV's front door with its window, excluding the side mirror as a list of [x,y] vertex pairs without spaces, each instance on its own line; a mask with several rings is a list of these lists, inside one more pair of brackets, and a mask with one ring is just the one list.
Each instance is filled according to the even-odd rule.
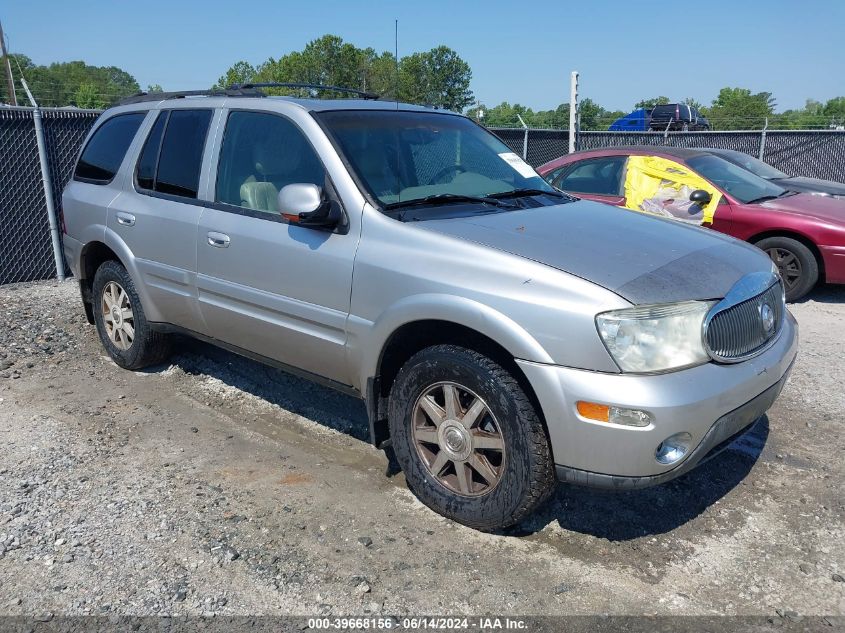
[[276,197],[294,183],[333,196],[296,124],[279,114],[229,112],[214,203],[196,237],[200,310],[214,338],[349,384],[346,318],[358,235],[287,222]]

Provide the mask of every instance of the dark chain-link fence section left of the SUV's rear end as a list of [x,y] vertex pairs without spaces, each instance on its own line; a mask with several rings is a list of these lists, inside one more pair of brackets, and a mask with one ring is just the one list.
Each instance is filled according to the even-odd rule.
[[[45,108],[41,115],[59,207],[79,146],[99,113]],[[0,284],[55,276],[33,110],[0,108]]]

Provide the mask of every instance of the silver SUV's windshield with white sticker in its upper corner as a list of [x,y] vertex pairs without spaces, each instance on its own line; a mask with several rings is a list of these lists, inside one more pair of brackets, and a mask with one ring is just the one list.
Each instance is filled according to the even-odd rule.
[[364,187],[388,210],[497,206],[519,195],[562,195],[493,134],[462,116],[342,110],[317,117]]

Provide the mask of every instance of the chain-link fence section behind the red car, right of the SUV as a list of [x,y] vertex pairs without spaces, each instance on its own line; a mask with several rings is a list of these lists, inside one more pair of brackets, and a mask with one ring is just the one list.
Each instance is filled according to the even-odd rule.
[[[569,151],[566,130],[491,128],[505,144],[534,167]],[[733,149],[759,157],[792,176],[845,182],[845,132],[839,130],[768,130],[741,132],[581,132],[579,150],[626,145],[670,145]]]

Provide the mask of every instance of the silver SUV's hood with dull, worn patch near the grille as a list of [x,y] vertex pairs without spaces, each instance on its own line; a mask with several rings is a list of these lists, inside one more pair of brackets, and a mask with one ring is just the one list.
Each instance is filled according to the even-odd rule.
[[721,299],[740,277],[772,268],[762,251],[715,231],[587,200],[417,226],[552,266],[634,304]]

